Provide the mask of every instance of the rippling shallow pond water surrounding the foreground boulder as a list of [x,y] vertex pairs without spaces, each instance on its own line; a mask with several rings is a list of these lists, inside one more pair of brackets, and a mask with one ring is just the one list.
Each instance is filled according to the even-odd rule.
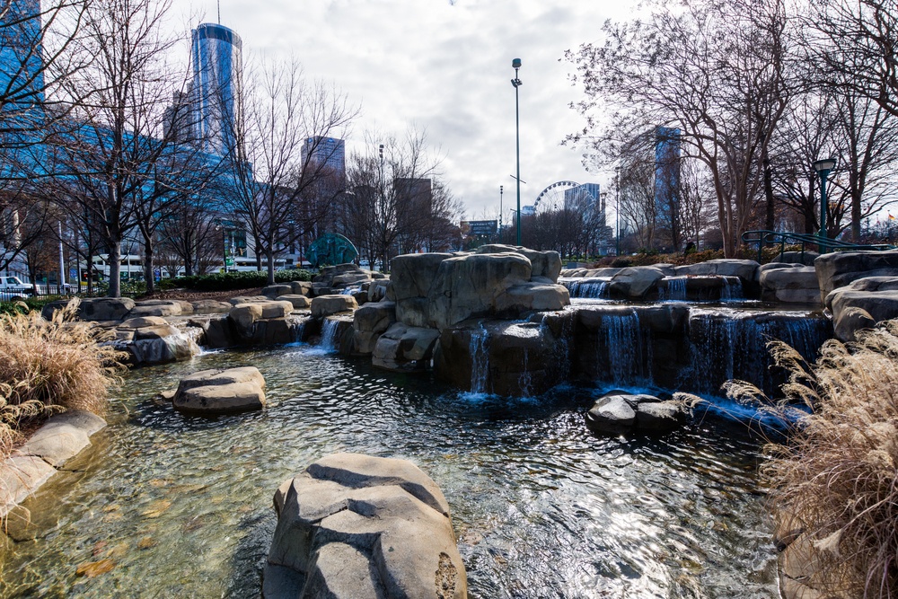
[[[257,366],[267,410],[188,418],[180,376]],[[711,415],[649,439],[584,425],[595,389],[507,400],[305,345],[128,374],[110,427],[29,499],[4,597],[258,597],[287,477],[325,454],[407,458],[453,509],[472,597],[777,597],[760,444]],[[110,571],[79,577],[85,562]]]

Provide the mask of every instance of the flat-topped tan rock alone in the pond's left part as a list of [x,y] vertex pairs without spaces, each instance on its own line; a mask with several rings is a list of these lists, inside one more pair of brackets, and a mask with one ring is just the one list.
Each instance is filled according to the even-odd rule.
[[189,414],[232,414],[265,407],[265,379],[254,366],[203,370],[182,379],[172,399]]

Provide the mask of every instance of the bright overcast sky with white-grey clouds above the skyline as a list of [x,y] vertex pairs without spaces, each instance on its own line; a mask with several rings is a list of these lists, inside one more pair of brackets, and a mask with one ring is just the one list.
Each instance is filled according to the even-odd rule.
[[[250,54],[290,57],[306,75],[337,84],[362,114],[347,140],[352,152],[366,130],[401,137],[409,125],[427,130],[445,155],[443,171],[469,218],[498,215],[515,203],[513,58],[523,61],[521,202],[532,204],[554,181],[598,182],[580,152],[561,140],[583,127],[568,103],[579,98],[559,59],[593,41],[629,0],[220,0],[221,22]],[[186,15],[216,22],[216,0],[174,0]],[[605,6],[603,7],[603,4]],[[192,23],[195,25],[196,23]]]

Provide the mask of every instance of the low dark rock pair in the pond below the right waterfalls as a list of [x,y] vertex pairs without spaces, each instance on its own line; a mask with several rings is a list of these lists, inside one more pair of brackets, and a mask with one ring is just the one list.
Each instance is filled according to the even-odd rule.
[[586,412],[586,427],[600,435],[623,435],[630,431],[663,433],[680,427],[685,411],[675,401],[662,401],[645,393],[612,392]]

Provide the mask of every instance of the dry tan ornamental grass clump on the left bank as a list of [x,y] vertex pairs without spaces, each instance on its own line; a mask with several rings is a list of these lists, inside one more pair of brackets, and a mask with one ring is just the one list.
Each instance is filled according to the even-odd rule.
[[75,322],[75,310],[59,310],[50,322],[36,312],[0,315],[0,458],[34,418],[64,410],[104,413],[125,354],[102,345],[102,330]]

